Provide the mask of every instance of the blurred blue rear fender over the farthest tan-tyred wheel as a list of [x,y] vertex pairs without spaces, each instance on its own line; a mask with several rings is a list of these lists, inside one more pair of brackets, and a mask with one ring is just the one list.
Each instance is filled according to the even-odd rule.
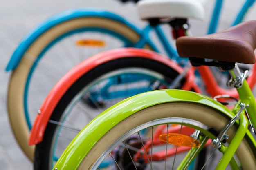
[[102,9],[81,8],[81,9],[64,11],[56,15],[53,15],[51,18],[48,18],[45,22],[42,22],[41,24],[36,26],[32,31],[30,31],[27,35],[25,35],[25,37],[21,40],[16,50],[13,52],[13,55],[11,56],[11,59],[9,60],[5,70],[6,71],[14,70],[18,66],[22,56],[24,55],[25,51],[27,51],[29,46],[47,30],[67,20],[72,20],[80,17],[102,17],[102,18],[116,20],[130,27],[138,34],[141,33],[140,29],[138,29],[132,23],[128,22],[126,19],[114,13],[104,11]]

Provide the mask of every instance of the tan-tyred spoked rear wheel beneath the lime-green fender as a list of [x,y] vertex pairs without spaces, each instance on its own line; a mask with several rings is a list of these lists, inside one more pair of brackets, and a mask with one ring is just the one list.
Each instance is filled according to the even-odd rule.
[[[114,107],[114,109],[117,108]],[[187,170],[189,162],[195,156],[191,154],[192,145],[196,144],[196,141],[200,141],[200,147],[193,147],[195,150],[200,150],[204,144],[207,144],[206,141],[214,139],[230,120],[224,114],[209,106],[191,102],[157,104],[137,111],[125,119],[118,118],[118,115],[116,118],[119,123],[97,140],[80,165],[77,165],[77,169],[101,169],[105,164],[104,160],[109,161],[110,159],[112,164],[108,164],[108,169],[155,170],[166,168]],[[159,126],[164,126],[164,130],[160,134],[166,135],[168,133],[170,135],[176,133],[179,134],[179,137],[182,135],[187,137],[190,135],[197,136],[195,134],[199,134],[197,136],[198,139],[192,138],[193,141],[189,144],[191,146],[186,148],[171,144],[171,142],[175,143],[177,141],[171,141],[174,139],[171,136],[169,136],[170,143],[164,141],[160,145],[156,145],[156,140],[152,136],[156,133],[155,129]],[[172,131],[171,127],[177,129]],[[144,130],[148,130],[149,135],[143,135]],[[199,131],[196,132],[195,130]],[[231,127],[228,131],[229,139],[232,138],[236,130],[236,126]],[[159,135],[157,137],[159,140]],[[225,145],[228,146],[228,143],[229,140],[227,140]],[[147,149],[149,144],[150,149]],[[251,148],[250,144],[252,143],[245,136],[238,150],[236,150],[236,155],[231,159],[226,169],[238,170],[242,168],[247,170],[256,168],[255,148]],[[169,152],[171,150],[174,152]],[[156,157],[157,153],[163,153],[163,155]],[[196,151],[192,153],[196,153]],[[215,169],[221,155],[222,152],[219,152],[218,149],[211,148],[211,150],[208,150],[204,169]],[[182,163],[185,156],[187,160]],[[180,163],[182,163],[182,167],[180,167]]]

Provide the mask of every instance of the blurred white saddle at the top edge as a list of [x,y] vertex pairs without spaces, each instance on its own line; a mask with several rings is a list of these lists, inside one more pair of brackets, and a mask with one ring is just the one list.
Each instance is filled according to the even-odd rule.
[[170,17],[204,19],[200,0],[140,0],[137,5],[142,20]]

